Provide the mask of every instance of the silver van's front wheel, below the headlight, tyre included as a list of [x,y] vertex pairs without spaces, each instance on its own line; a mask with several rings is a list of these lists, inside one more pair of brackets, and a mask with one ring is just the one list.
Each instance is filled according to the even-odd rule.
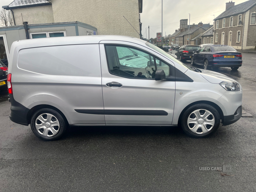
[[184,111],[180,119],[182,130],[188,136],[195,138],[209,137],[217,131],[220,122],[218,111],[212,105],[205,103],[192,105]]

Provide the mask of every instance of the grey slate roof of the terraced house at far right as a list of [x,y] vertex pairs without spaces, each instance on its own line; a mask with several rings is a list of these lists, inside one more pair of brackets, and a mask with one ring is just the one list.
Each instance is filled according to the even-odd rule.
[[249,0],[244,3],[240,3],[236,6],[232,6],[228,8],[226,11],[221,13],[218,17],[216,17],[214,20],[218,20],[224,17],[229,17],[231,15],[237,15],[239,13],[247,12],[248,9],[250,9],[252,6],[256,5],[256,0]]

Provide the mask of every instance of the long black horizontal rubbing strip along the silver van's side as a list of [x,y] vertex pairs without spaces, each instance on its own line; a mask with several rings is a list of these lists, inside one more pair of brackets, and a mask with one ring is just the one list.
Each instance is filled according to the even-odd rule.
[[167,116],[163,110],[112,110],[112,109],[75,109],[78,113],[95,115],[139,115],[139,116]]

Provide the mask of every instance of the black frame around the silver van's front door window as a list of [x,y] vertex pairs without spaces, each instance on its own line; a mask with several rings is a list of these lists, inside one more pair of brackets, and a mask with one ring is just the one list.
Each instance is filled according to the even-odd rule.
[[[166,61],[163,61],[162,59],[160,59],[159,57],[155,56],[154,54],[150,53],[150,52],[147,52],[145,51],[144,49],[141,49],[141,48],[138,48],[138,47],[134,47],[134,46],[131,46],[131,45],[125,45],[125,44],[104,44],[104,48],[105,48],[105,54],[106,54],[106,59],[107,59],[107,64],[108,64],[108,73],[113,75],[113,76],[118,76],[118,77],[122,77],[122,78],[125,78],[125,79],[142,79],[142,80],[154,80],[155,79],[148,79],[148,78],[136,78],[136,77],[124,77],[124,76],[120,76],[120,75],[117,75],[117,74],[113,74],[110,72],[110,65],[108,63],[108,53],[107,53],[107,49],[106,49],[106,46],[116,46],[116,47],[127,47],[127,48],[131,48],[131,49],[137,49],[141,52],[144,52],[150,56],[152,56],[154,58],[154,66],[155,66],[155,70],[157,71],[157,63],[156,63],[156,59],[158,59],[159,61],[163,62],[164,64],[168,65],[169,66],[169,76],[166,76],[166,77],[173,77],[175,79],[175,66],[172,66],[171,64],[167,63]],[[116,52],[117,53],[117,52]],[[173,72],[171,71],[171,68],[173,68]],[[170,74],[174,74],[173,75],[170,75]]]

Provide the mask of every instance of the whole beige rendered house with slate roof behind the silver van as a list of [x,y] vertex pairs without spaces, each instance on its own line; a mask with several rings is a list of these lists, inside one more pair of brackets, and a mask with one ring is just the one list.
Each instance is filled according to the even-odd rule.
[[[107,3],[95,0],[14,0],[3,9],[11,10],[15,25],[75,22],[87,23],[99,35],[127,35],[140,38],[143,0]],[[125,20],[125,18],[131,25]]]

